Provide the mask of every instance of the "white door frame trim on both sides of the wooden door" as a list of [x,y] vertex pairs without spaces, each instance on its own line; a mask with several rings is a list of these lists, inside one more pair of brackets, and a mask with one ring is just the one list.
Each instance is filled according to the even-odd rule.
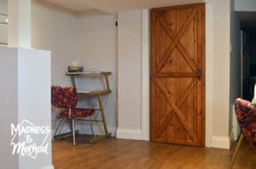
[[[212,3],[206,3],[206,134],[205,134],[205,146],[212,147]],[[142,139],[149,140],[150,127],[149,127],[149,49],[150,49],[150,34],[149,34],[149,9],[143,10],[143,37],[142,37]]]

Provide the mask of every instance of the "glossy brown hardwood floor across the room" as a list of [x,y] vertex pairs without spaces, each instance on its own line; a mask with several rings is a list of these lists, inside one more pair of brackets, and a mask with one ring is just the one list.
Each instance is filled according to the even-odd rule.
[[[55,140],[53,164],[55,169],[226,169],[230,168],[235,149],[213,149],[107,138],[89,144],[84,136]],[[256,169],[256,152],[247,143],[241,145],[233,169]]]

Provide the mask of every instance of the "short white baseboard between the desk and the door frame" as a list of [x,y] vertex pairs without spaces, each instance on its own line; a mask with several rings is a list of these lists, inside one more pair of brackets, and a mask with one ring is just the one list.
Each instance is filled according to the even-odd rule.
[[116,138],[141,140],[142,139],[142,131],[118,128],[117,132],[116,132]]

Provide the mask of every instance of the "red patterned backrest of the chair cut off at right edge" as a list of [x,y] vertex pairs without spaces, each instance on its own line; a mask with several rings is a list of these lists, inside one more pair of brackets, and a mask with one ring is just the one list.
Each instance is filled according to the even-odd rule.
[[235,101],[236,117],[241,132],[253,149],[256,149],[256,104],[245,99]]

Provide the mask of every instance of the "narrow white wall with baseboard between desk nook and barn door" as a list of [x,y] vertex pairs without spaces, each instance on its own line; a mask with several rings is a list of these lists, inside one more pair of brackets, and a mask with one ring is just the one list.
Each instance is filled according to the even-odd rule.
[[142,11],[118,15],[117,138],[142,135]]

